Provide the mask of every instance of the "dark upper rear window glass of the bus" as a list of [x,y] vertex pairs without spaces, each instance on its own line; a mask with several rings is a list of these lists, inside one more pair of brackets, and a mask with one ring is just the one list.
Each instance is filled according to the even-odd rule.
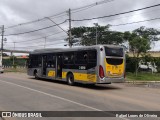
[[123,48],[104,47],[106,56],[123,57]]

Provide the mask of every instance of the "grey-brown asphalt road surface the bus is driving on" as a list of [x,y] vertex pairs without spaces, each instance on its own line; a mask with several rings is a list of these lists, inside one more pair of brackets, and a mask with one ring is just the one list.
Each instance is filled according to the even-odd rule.
[[24,73],[4,73],[0,74],[0,111],[160,111],[160,89],[126,84],[69,86]]

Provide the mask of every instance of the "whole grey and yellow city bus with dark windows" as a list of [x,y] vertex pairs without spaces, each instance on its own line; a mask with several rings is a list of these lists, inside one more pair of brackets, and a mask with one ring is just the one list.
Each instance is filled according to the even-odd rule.
[[123,47],[114,45],[35,50],[29,55],[28,75],[69,85],[123,82],[125,53]]

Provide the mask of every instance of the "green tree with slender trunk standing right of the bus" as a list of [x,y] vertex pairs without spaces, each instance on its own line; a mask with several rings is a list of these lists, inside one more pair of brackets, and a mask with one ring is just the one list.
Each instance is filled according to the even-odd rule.
[[133,32],[125,32],[124,39],[128,40],[130,51],[136,60],[135,73],[138,73],[138,63],[140,61],[140,55],[145,54],[151,49],[151,43],[158,41],[160,38],[158,35],[160,32],[154,28],[140,27]]

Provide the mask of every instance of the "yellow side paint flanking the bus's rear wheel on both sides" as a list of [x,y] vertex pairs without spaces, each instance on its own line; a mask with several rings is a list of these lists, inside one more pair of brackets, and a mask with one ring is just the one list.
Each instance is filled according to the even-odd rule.
[[[86,74],[86,73],[73,73],[74,79],[84,82],[96,82],[95,74]],[[67,72],[62,72],[62,78],[66,79]]]

